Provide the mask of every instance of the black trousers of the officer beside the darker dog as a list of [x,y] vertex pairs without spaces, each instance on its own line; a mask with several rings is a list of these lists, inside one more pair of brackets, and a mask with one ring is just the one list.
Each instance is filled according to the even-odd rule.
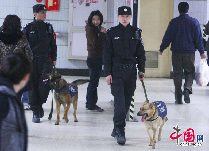
[[42,104],[46,102],[50,87],[43,80],[46,74],[52,71],[52,63],[48,58],[34,58],[33,72],[31,74],[30,107],[33,112],[39,112]]

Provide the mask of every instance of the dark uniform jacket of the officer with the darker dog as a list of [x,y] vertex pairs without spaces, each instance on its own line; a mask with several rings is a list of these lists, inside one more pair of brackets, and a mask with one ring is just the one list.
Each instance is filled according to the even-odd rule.
[[23,32],[29,41],[34,58],[46,56],[51,61],[57,60],[57,45],[51,24],[34,20],[26,25]]

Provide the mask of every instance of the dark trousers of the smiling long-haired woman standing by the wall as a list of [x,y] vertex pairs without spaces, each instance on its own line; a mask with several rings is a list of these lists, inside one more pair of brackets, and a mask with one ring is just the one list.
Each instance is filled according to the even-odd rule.
[[102,58],[87,58],[87,65],[89,68],[90,82],[87,87],[86,107],[93,108],[98,100],[97,87],[102,72]]

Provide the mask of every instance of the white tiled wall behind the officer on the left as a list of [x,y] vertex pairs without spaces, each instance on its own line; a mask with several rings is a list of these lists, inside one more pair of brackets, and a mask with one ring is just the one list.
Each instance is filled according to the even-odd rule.
[[[43,0],[44,2],[44,0]],[[69,60],[68,50],[68,24],[69,24],[69,0],[60,0],[59,12],[48,12],[47,21],[50,22],[55,32],[58,32],[58,68],[85,69],[85,61]],[[33,20],[32,6],[35,0],[0,0],[0,26],[6,15],[16,14],[22,19],[22,26]]]

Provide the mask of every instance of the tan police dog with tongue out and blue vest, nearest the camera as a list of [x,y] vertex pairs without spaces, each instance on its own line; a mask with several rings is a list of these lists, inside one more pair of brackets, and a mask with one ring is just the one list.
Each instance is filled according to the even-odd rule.
[[137,116],[142,116],[142,122],[145,123],[149,135],[149,146],[152,146],[152,149],[155,149],[156,144],[156,134],[158,133],[158,141],[161,140],[162,128],[167,118],[167,107],[164,102],[156,101],[151,102],[145,101],[140,108],[140,111],[137,113]]

